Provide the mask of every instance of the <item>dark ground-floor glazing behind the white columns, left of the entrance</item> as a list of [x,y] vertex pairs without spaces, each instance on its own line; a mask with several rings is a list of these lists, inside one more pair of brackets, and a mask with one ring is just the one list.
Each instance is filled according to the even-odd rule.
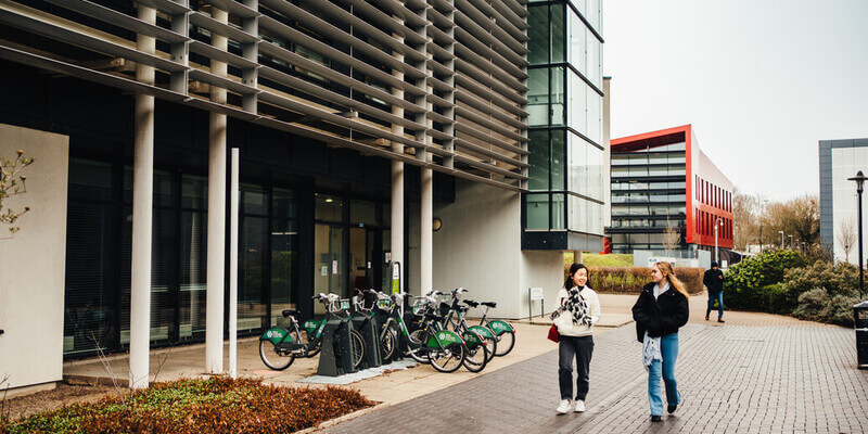
[[[297,308],[298,205],[293,190],[241,188],[240,332],[261,330]],[[72,158],[67,213],[66,357],[124,350],[130,339],[132,168]],[[153,345],[205,335],[207,178],[154,171],[151,272]]]

